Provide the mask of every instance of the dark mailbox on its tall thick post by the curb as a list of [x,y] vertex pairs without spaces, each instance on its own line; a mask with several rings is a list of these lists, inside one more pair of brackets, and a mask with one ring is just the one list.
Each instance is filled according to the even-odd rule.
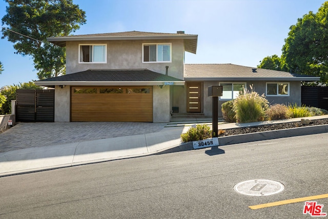
[[209,97],[212,96],[212,136],[218,137],[218,96],[222,96],[222,86],[210,86]]

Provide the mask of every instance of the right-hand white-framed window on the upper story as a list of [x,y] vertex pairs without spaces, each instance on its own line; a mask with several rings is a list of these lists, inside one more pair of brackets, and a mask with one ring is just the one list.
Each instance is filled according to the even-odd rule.
[[172,62],[172,44],[142,44],[142,63]]

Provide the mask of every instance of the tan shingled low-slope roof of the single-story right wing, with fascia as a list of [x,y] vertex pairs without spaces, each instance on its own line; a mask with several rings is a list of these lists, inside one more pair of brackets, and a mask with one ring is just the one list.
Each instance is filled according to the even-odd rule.
[[233,64],[186,64],[185,81],[319,81],[320,77]]

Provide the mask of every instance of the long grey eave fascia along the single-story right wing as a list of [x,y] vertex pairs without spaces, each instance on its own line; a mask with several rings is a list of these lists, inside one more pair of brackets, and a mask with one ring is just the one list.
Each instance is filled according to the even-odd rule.
[[185,81],[302,81],[315,82],[320,81],[320,77],[185,77]]

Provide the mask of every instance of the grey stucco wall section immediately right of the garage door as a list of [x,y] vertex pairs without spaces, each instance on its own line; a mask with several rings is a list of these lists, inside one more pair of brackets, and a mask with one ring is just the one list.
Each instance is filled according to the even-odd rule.
[[153,86],[153,122],[170,122],[170,86]]

